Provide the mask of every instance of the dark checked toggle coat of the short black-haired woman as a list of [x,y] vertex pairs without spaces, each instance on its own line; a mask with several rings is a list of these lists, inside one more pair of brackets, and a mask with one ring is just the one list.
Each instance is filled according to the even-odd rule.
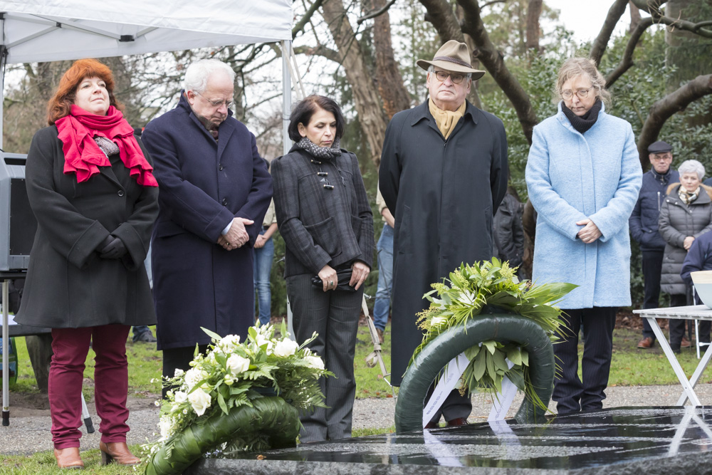
[[373,215],[356,155],[317,159],[292,147],[272,164],[285,278],[357,260],[371,267]]

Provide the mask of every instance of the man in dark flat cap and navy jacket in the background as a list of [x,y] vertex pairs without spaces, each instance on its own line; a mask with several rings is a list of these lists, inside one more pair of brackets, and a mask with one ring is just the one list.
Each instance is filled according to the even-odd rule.
[[[630,234],[638,241],[643,260],[643,308],[658,308],[660,274],[665,241],[658,232],[660,207],[670,184],[679,182],[680,175],[671,168],[672,147],[666,142],[654,142],[648,147],[650,169],[643,174],[638,201],[628,220]],[[643,319],[643,338],[638,348],[652,348],[655,334],[648,320]],[[684,344],[684,342],[683,342]],[[687,346],[690,344],[687,343]]]

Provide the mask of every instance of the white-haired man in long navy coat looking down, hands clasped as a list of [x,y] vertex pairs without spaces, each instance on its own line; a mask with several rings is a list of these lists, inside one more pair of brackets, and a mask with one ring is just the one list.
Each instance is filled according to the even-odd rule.
[[231,117],[234,80],[221,61],[192,64],[177,107],[142,135],[159,184],[153,292],[167,377],[210,343],[201,327],[244,339],[254,321],[252,246],[272,179],[255,136]]

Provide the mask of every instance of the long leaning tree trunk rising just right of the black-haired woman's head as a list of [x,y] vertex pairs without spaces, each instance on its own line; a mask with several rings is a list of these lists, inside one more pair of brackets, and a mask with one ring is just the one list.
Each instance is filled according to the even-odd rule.
[[361,130],[371,150],[371,161],[376,166],[381,161],[381,149],[386,134],[387,120],[381,108],[381,98],[368,73],[359,43],[356,41],[342,0],[328,0],[322,5],[322,12],[331,31],[351,86],[356,112]]

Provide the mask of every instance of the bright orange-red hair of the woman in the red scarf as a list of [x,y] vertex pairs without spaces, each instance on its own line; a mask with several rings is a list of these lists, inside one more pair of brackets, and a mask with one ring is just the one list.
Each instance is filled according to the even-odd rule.
[[106,83],[109,105],[119,110],[124,106],[114,97],[114,75],[108,66],[95,59],[80,59],[74,62],[59,81],[57,92],[47,105],[47,122],[53,125],[69,115],[77,93],[77,88],[85,78],[100,78]]

